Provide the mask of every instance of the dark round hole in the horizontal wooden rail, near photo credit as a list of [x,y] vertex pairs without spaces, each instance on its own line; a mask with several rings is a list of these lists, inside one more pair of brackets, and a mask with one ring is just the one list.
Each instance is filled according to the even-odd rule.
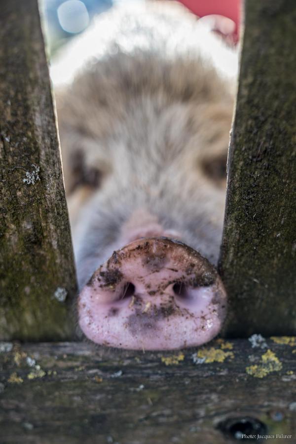
[[228,418],[222,421],[218,428],[227,436],[234,440],[248,442],[262,442],[258,435],[266,435],[267,427],[259,419],[246,416],[243,418]]

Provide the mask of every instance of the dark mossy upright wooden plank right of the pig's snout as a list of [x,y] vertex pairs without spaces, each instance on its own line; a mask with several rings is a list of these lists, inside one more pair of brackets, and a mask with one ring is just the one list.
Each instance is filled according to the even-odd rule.
[[220,272],[225,334],[296,334],[296,2],[247,0]]

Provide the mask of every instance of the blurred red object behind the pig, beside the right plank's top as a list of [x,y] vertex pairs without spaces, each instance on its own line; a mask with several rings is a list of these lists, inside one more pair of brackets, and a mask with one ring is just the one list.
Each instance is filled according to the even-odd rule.
[[[179,0],[198,17],[207,17],[213,31],[237,42],[241,0]],[[229,20],[230,19],[230,20]]]

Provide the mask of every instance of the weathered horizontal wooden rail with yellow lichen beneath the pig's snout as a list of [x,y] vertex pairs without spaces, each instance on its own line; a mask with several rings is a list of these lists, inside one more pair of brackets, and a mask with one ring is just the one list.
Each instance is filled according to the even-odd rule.
[[292,435],[268,443],[295,443],[296,338],[257,344],[143,353],[2,343],[0,442],[226,444],[260,421],[259,433]]

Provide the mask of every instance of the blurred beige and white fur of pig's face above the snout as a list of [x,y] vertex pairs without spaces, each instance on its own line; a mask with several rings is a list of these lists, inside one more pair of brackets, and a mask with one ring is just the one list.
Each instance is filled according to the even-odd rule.
[[131,220],[181,233],[217,263],[235,91],[227,64],[234,51],[171,1],[114,8],[54,64],[80,288]]

